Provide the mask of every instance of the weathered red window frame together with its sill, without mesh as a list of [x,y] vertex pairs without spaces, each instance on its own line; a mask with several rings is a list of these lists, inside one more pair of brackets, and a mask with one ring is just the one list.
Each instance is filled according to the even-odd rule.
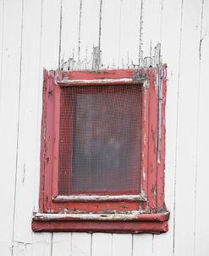
[[[168,231],[164,203],[166,64],[135,70],[44,70],[41,122],[39,212],[33,231]],[[61,86],[142,88],[140,193],[138,195],[58,195]]]

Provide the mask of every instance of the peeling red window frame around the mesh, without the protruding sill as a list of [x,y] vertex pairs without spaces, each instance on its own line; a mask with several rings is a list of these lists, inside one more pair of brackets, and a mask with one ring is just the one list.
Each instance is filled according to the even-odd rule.
[[[166,90],[164,90],[164,88],[166,88],[166,66],[163,68],[162,97],[166,93]],[[161,68],[104,70],[102,72],[69,71],[58,73],[53,71],[47,72],[47,70],[45,70],[41,126],[41,213],[130,214],[137,211],[140,214],[153,214],[166,210],[163,191],[165,127],[161,127],[162,129],[160,130],[163,132],[160,138],[160,142],[162,142],[160,145],[161,153],[157,155],[157,149],[159,149],[159,147],[157,147],[159,143],[157,129],[157,114],[159,113],[157,113],[157,106],[159,100],[158,81],[160,81],[160,71]],[[64,82],[64,84],[62,84],[62,82]],[[107,86],[115,84],[118,86],[124,84],[138,84],[141,86],[142,90],[141,114],[143,120],[143,137],[140,156],[140,193],[138,195],[124,195],[123,193],[122,195],[118,193],[115,195],[99,195],[99,193],[96,195],[58,195],[58,117],[60,109],[60,86]],[[165,118],[165,102],[162,103],[161,109],[163,110],[161,114],[162,125],[164,124]],[[78,217],[78,215],[76,216]],[[130,215],[125,216],[130,217]],[[59,222],[59,220],[56,221]],[[126,228],[124,228],[124,230],[126,230]]]

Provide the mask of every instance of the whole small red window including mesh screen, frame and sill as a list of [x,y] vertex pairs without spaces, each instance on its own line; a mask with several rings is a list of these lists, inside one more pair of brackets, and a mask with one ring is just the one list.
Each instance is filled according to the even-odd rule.
[[34,231],[168,231],[166,65],[44,71]]

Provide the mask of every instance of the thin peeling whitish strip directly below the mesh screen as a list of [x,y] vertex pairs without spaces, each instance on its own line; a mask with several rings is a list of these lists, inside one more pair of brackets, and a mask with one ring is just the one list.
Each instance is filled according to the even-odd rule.
[[57,196],[52,198],[53,202],[146,202],[146,198],[140,195],[118,195],[118,196],[101,196],[101,195],[71,195]]

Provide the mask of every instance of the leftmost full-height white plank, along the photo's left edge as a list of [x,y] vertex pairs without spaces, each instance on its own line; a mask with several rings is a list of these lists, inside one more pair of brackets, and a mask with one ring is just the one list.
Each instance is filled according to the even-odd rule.
[[0,233],[0,241],[2,253],[7,256],[11,255],[14,228],[22,1],[5,1],[3,16],[0,102],[0,155],[3,178],[0,181],[0,193],[6,197],[2,200],[3,209],[0,211],[3,231]]

